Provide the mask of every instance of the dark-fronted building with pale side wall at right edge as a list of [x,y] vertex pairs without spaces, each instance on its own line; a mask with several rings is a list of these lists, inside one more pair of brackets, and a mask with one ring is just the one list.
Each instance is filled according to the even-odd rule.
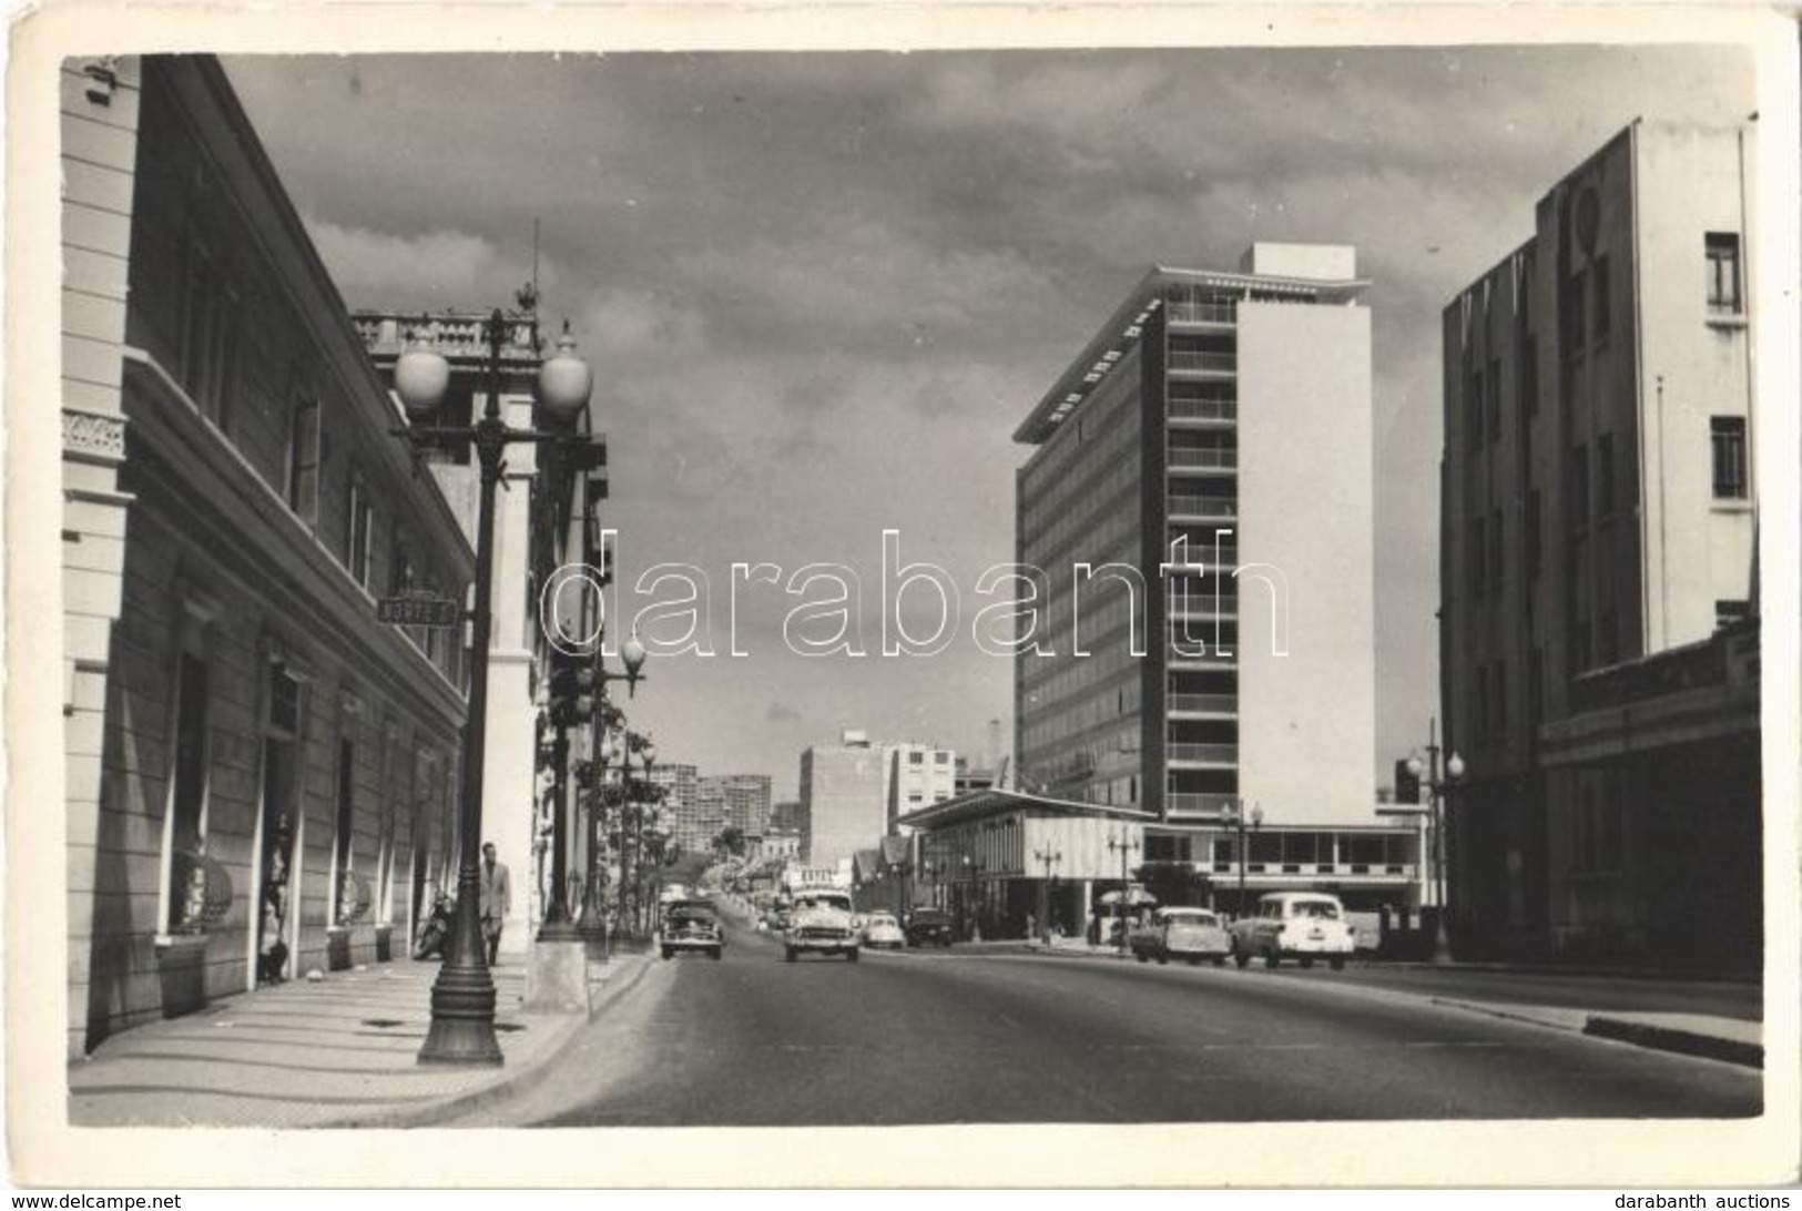
[[1445,308],[1465,950],[1757,962],[1752,150],[1627,126]]

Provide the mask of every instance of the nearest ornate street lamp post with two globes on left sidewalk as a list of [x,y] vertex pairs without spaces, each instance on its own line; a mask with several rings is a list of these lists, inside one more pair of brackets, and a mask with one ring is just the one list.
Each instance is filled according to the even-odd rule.
[[481,937],[481,778],[488,712],[490,580],[494,577],[494,490],[501,456],[519,442],[569,442],[577,414],[587,407],[593,371],[575,357],[568,330],[557,357],[539,368],[539,405],[555,431],[510,429],[501,418],[501,346],[508,321],[499,308],[488,317],[488,404],[469,427],[431,423],[450,386],[450,364],[420,344],[395,362],[395,393],[407,409],[407,427],[396,434],[414,449],[460,442],[472,445],[481,467],[476,512],[476,584],[470,609],[469,723],[463,726],[463,786],[458,802],[460,863],[456,921],[443,966],[432,982],[432,1024],[420,1047],[420,1063],[499,1067],[505,1063],[494,1034],[494,977]]

